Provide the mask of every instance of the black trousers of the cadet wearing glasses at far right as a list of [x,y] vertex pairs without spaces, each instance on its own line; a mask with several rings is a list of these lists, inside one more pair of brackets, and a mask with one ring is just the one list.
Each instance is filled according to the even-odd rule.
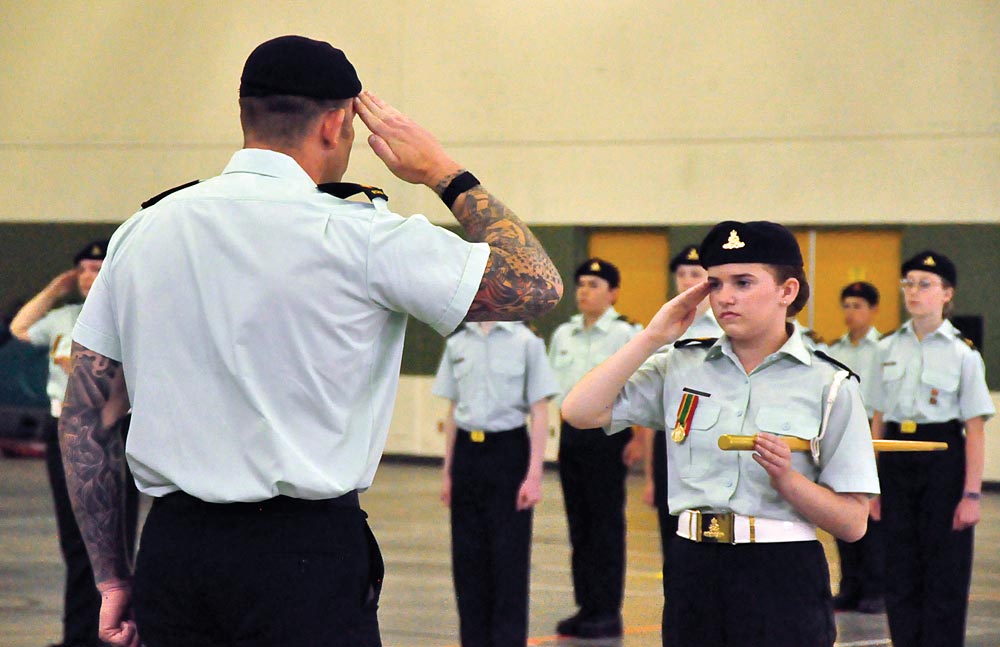
[[965,487],[965,438],[958,421],[920,425],[886,438],[936,440],[943,452],[879,456],[886,544],[885,602],[896,647],[961,647],[972,580],[973,530],[952,530]]

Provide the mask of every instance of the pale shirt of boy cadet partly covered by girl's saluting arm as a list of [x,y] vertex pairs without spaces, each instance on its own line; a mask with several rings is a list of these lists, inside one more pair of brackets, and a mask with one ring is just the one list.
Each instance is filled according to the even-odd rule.
[[590,369],[611,357],[642,329],[620,317],[614,308],[608,308],[593,326],[585,328],[583,315],[576,314],[552,333],[549,360],[559,380],[559,404]]

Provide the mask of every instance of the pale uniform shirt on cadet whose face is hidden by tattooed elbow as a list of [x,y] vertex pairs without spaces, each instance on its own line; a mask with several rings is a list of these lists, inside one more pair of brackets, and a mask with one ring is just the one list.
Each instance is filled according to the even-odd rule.
[[434,395],[455,403],[463,429],[520,427],[531,405],[559,392],[545,342],[520,322],[497,322],[484,333],[477,323],[448,338]]

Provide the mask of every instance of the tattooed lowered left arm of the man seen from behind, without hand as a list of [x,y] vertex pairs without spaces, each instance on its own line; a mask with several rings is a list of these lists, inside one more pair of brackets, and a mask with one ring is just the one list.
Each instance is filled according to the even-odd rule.
[[131,578],[122,438],[128,408],[121,363],[73,342],[59,445],[70,502],[98,584]]

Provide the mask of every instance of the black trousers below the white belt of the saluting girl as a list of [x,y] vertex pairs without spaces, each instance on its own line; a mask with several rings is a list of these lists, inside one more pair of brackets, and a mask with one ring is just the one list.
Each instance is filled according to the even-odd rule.
[[818,541],[709,544],[678,538],[663,574],[675,647],[832,647],[830,571]]

